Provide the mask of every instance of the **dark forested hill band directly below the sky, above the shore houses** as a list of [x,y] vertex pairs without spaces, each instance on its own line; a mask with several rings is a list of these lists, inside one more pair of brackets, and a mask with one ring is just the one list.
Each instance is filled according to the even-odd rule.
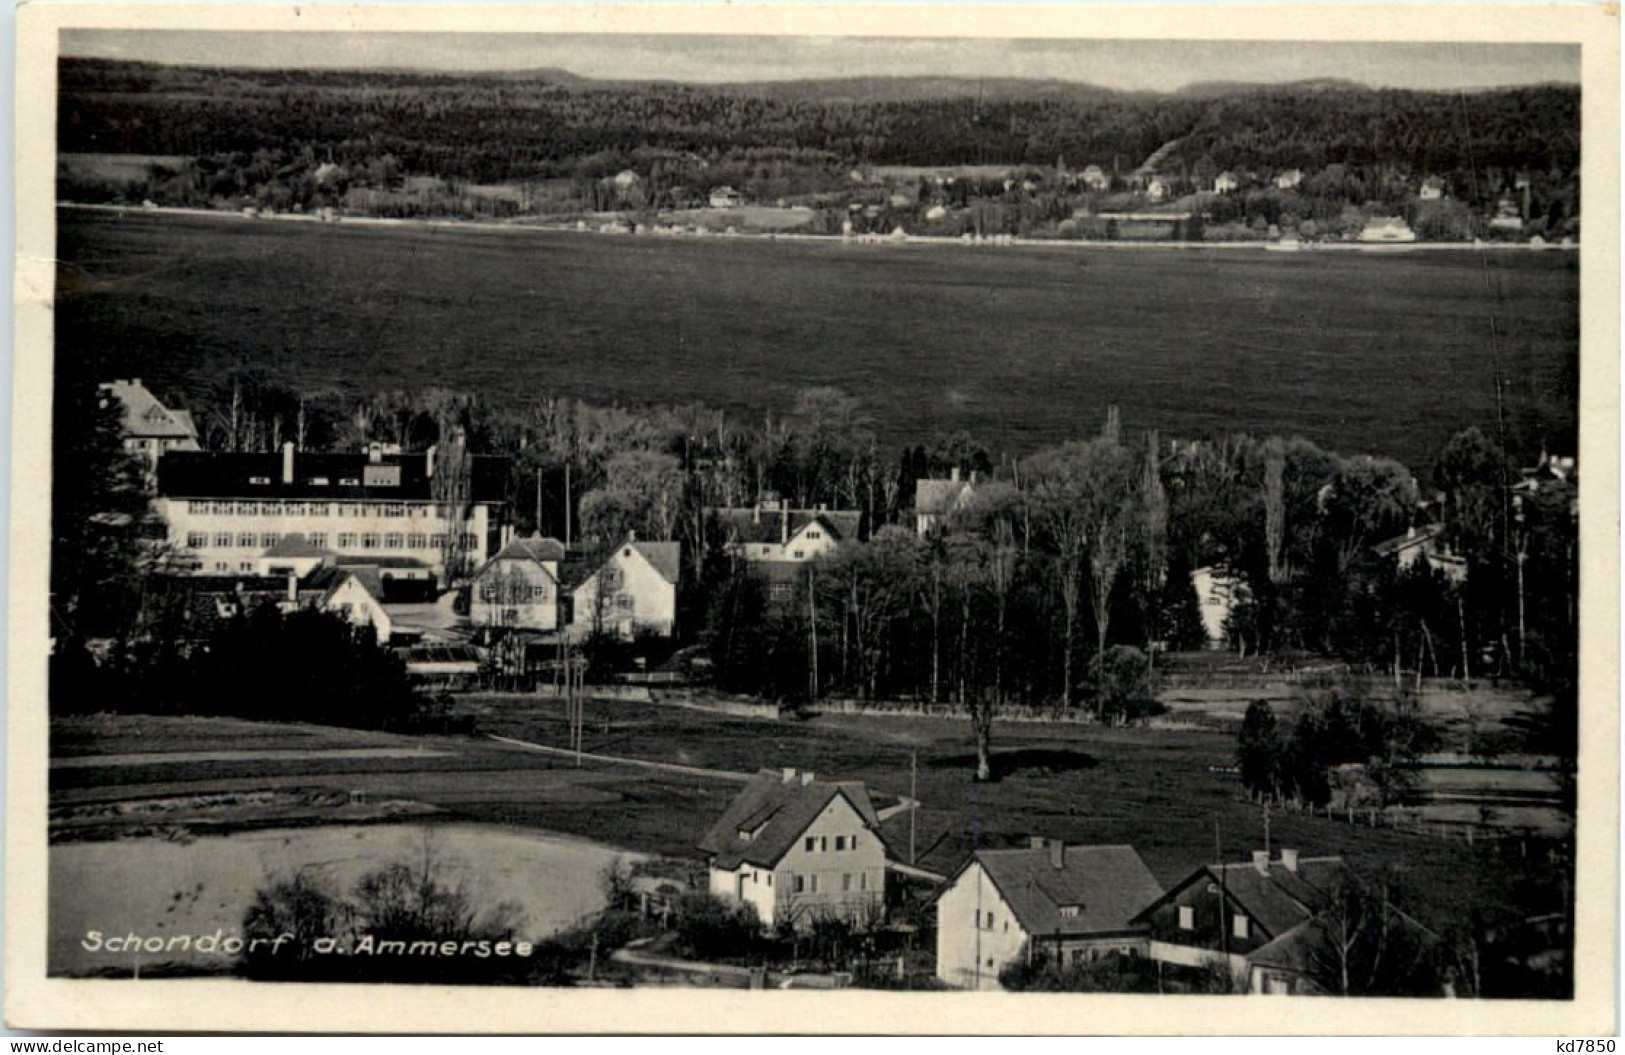
[[[1206,85],[1173,94],[1066,81],[600,83],[557,70],[448,75],[210,70],[67,59],[65,153],[384,156],[473,182],[601,177],[661,159],[852,164],[1098,164],[1404,169],[1493,195],[1511,172],[1571,179],[1580,89],[1372,89],[1344,81]],[[1500,179],[1506,174],[1508,179]]]

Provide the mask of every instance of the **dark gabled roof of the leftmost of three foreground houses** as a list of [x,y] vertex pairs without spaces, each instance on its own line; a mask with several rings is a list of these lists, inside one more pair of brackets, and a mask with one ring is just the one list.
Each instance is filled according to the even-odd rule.
[[[710,855],[715,868],[774,868],[801,832],[838,797],[858,811],[864,826],[879,839],[881,823],[861,780],[803,784],[800,774],[785,780],[780,771],[764,769],[728,803],[722,818],[700,839],[699,849]],[[749,832],[749,839],[743,839],[741,831]]]

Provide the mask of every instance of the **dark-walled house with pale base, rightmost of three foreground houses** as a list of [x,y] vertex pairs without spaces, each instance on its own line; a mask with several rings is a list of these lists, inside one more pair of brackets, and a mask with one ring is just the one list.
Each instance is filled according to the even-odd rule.
[[1134,918],[1152,959],[1185,969],[1228,969],[1253,993],[1315,993],[1310,923],[1344,881],[1341,857],[1268,852],[1198,868]]

